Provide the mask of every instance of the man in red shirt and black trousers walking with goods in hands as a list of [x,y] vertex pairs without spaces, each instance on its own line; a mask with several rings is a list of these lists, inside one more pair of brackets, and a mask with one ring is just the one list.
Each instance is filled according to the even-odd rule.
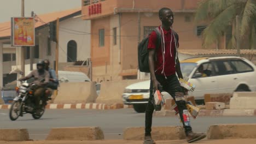
[[174,20],[172,10],[169,8],[160,9],[159,19],[162,23],[162,25],[158,27],[161,35],[160,46],[157,45],[158,34],[155,31],[150,34],[148,42],[150,98],[146,109],[144,143],[155,143],[151,137],[152,116],[154,111],[152,99],[153,93],[158,90],[159,86],[162,86],[162,90],[169,93],[175,100],[187,136],[187,141],[195,142],[205,138],[206,135],[194,133],[190,126],[186,101],[184,99],[185,89],[179,85],[178,80],[178,77],[183,79],[183,76],[177,52],[179,46],[178,34],[171,28]]

